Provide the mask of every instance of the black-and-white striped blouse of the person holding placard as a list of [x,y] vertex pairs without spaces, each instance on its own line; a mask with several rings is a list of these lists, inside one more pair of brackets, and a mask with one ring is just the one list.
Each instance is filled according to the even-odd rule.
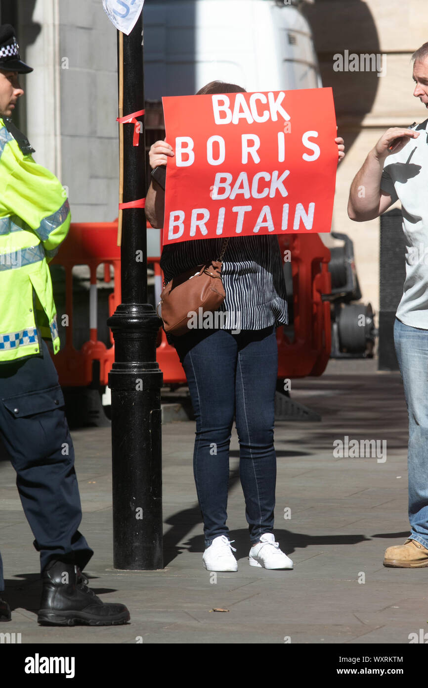
[[[167,244],[161,269],[169,282],[181,272],[216,260],[224,238],[194,239]],[[219,310],[230,314],[223,329],[262,330],[286,324],[288,312],[282,257],[276,235],[231,237],[221,270],[226,298]]]

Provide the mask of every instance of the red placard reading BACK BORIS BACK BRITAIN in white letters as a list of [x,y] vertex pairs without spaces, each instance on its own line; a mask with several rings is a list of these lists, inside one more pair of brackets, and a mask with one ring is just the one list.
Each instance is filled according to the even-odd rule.
[[164,244],[329,232],[338,151],[330,88],[163,98]]

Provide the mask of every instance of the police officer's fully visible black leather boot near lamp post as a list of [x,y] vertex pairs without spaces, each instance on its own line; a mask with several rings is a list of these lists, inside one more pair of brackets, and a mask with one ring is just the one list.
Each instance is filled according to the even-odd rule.
[[74,563],[50,561],[43,570],[43,591],[37,621],[42,625],[120,625],[129,621],[123,604],[105,604],[87,587],[88,580]]

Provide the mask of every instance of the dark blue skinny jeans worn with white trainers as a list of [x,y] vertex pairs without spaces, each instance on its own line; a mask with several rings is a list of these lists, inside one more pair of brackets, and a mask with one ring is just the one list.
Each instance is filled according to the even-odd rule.
[[227,487],[234,416],[239,475],[251,543],[273,531],[276,456],[273,448],[278,347],[275,330],[192,330],[173,337],[196,417],[193,469],[205,547],[229,535]]

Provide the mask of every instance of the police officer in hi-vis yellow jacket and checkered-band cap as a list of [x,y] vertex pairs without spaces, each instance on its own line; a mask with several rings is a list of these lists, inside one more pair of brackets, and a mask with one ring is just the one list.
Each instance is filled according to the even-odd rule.
[[[82,574],[93,550],[78,531],[82,517],[74,449],[58,375],[43,338],[60,341],[47,264],[67,236],[63,186],[34,162],[28,140],[9,119],[23,95],[14,29],[0,26],[0,444],[40,552],[43,592],[38,622],[117,625],[122,604],[105,604]],[[2,458],[3,458],[2,456]],[[0,593],[4,590],[0,556]],[[11,618],[0,599],[0,620]]]

